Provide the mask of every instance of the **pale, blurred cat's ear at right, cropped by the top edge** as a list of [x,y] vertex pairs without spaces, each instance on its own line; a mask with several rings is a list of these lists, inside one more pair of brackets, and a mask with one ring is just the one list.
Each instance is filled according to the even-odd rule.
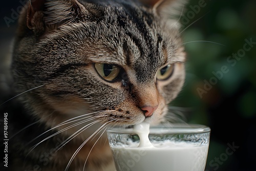
[[140,0],[150,5],[153,10],[163,18],[177,18],[182,15],[182,10],[187,0]]

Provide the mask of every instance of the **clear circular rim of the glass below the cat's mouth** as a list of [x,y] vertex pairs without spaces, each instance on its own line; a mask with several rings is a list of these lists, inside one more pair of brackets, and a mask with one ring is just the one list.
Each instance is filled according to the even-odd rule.
[[[210,133],[210,127],[202,124],[184,124],[174,123],[170,125],[156,125],[150,126],[150,135],[161,134],[201,134]],[[120,126],[114,126],[106,130],[107,133],[112,134],[136,134],[133,128],[125,128]]]

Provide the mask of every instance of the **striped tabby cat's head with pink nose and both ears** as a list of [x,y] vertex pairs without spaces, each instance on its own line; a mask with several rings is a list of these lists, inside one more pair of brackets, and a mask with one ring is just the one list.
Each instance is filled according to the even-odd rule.
[[[143,1],[145,2],[145,1]],[[92,113],[102,122],[158,123],[184,82],[183,1],[32,1],[13,53],[18,93],[38,116]],[[42,117],[44,118],[44,117]],[[49,121],[49,122],[51,122]]]

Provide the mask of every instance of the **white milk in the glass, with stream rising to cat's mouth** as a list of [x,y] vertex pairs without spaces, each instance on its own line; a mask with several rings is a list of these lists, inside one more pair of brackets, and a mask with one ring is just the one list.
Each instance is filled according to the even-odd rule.
[[112,148],[117,171],[203,171],[208,145],[197,143],[150,142],[149,125],[134,126],[140,143],[130,142],[129,147]]

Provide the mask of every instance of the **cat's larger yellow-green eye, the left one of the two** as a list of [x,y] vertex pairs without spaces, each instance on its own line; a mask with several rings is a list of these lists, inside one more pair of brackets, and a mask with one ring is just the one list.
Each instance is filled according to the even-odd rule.
[[106,81],[113,81],[117,78],[120,68],[107,63],[94,63],[94,67],[98,74]]

